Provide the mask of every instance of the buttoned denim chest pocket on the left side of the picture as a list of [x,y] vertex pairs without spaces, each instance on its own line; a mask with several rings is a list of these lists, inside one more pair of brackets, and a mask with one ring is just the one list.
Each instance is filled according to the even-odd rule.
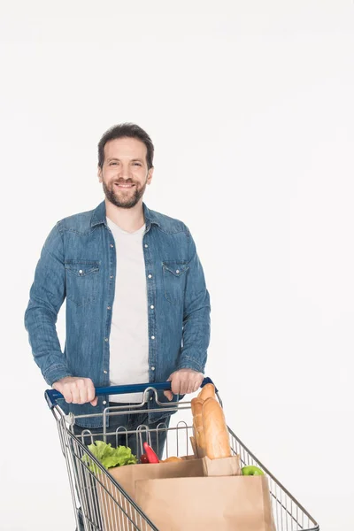
[[77,306],[96,302],[99,260],[66,260],[65,273],[66,298]]

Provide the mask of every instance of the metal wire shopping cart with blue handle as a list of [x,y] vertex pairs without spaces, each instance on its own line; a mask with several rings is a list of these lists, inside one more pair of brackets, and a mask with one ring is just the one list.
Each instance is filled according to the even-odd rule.
[[[205,378],[202,387],[208,382],[211,380]],[[132,432],[127,431],[127,427],[122,426],[112,434],[109,428],[106,428],[105,420],[107,417],[148,411],[175,412],[171,417],[173,421],[170,426],[167,427],[161,421],[153,431],[158,433],[165,431],[164,457],[192,455],[190,436],[193,435],[193,423],[190,402],[162,404],[158,400],[158,391],[169,389],[171,389],[171,382],[96,389],[96,396],[143,393],[142,404],[137,404],[134,408],[131,406],[127,408],[127,405],[110,406],[99,414],[103,416],[104,426],[102,433],[99,434],[100,439],[106,441],[108,435],[115,435],[118,441],[119,435],[123,434],[126,437],[134,435],[138,454],[136,457],[140,458],[144,451],[142,444],[147,442],[151,445],[150,428],[142,425]],[[147,404],[151,394],[155,395],[157,407],[148,410]],[[222,405],[218,392],[217,396]],[[114,480],[109,471],[89,451],[87,445],[94,440],[89,429],[85,429],[81,435],[74,435],[73,427],[76,419],[96,417],[98,414],[74,416],[73,413],[70,413],[65,415],[65,412],[58,405],[58,400],[63,399],[63,396],[55,390],[47,390],[45,398],[57,420],[61,449],[65,457],[73,496],[77,529],[84,529],[85,531],[158,531],[158,527],[150,521],[134,500],[128,496],[127,492]],[[180,417],[182,418],[180,419]],[[242,466],[258,466],[268,475],[277,531],[319,531],[317,522],[296,501],[295,497],[290,495],[289,491],[267,470],[266,466],[260,463],[230,428],[228,431],[232,452],[234,455],[240,456]],[[155,440],[158,439],[156,435]],[[158,451],[157,448],[154,450]],[[92,466],[93,463],[96,468]]]

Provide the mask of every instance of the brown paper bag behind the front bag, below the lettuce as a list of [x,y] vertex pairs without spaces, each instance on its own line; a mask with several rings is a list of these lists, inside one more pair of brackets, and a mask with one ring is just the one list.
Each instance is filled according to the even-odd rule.
[[[112,475],[124,493],[134,501],[136,481],[200,477],[203,474],[201,459],[189,456],[177,462],[116,466],[109,469],[109,475]],[[135,531],[136,527],[145,529],[139,512],[132,507],[127,496],[113,485],[109,475],[100,474],[97,477],[98,504],[104,531],[117,531],[120,528]]]

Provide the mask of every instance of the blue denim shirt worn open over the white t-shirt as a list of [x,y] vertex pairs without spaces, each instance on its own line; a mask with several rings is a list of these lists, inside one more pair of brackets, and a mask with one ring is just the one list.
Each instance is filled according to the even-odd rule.
[[[150,211],[145,204],[143,213],[150,382],[166,381],[181,368],[204,373],[210,340],[210,297],[195,242],[181,221]],[[104,202],[94,211],[58,221],[44,243],[25,326],[35,362],[50,386],[65,376],[91,378],[95,387],[109,385],[116,252],[119,249],[115,249],[107,226]],[[65,297],[63,353],[56,321]],[[159,400],[167,401],[162,393]],[[96,407],[64,401],[62,407],[65,412],[86,415],[103,412],[107,401],[107,396],[99,396]],[[156,407],[154,399],[149,407]],[[150,421],[162,418],[163,413],[151,412]],[[99,427],[102,419],[97,416],[79,423]]]

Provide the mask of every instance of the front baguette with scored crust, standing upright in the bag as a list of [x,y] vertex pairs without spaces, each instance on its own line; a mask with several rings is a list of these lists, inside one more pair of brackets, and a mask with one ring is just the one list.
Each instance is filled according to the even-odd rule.
[[215,398],[207,398],[204,401],[202,419],[205,449],[208,458],[230,458],[231,448],[227,423],[224,412]]

